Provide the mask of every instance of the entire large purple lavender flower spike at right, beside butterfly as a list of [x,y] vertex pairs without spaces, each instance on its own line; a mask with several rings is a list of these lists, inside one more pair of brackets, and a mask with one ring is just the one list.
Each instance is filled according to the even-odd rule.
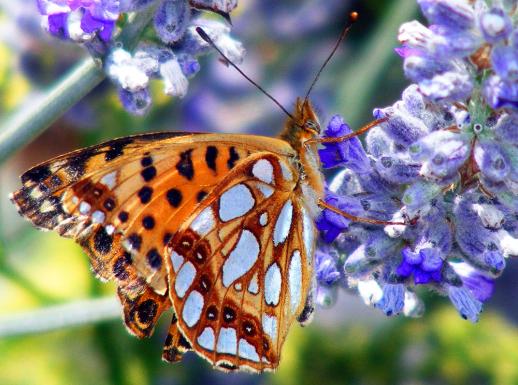
[[[317,225],[334,250],[320,253],[337,282],[387,315],[421,314],[415,289],[424,286],[474,322],[506,258],[518,256],[517,10],[418,2],[433,25],[404,24],[398,50],[415,84],[374,111],[380,122],[365,144],[320,150],[324,167],[344,168],[326,202],[360,218],[324,210]],[[325,135],[351,132],[335,116]]]

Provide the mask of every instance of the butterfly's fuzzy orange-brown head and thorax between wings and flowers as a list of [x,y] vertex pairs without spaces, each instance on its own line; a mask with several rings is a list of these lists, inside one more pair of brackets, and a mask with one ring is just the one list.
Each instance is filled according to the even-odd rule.
[[317,214],[318,199],[324,194],[324,180],[320,171],[317,143],[308,143],[320,136],[318,117],[308,100],[298,99],[294,118],[286,121],[281,139],[287,141],[297,152],[295,165],[300,171],[299,188],[313,206],[313,215]]

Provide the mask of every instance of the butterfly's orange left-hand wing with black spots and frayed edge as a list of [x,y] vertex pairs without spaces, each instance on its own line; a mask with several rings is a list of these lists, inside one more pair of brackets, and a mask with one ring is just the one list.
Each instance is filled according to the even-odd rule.
[[[203,196],[250,153],[265,148],[294,155],[285,142],[265,137],[126,137],[32,168],[22,175],[23,187],[11,198],[34,225],[83,246],[97,276],[119,286],[128,329],[144,337],[171,306],[165,266],[157,268],[157,258],[149,255],[161,259],[164,245]],[[154,226],[146,219],[150,215]],[[135,239],[141,239],[140,247],[133,247]],[[150,254],[153,250],[156,254]],[[176,329],[172,327],[178,340],[182,336]]]

